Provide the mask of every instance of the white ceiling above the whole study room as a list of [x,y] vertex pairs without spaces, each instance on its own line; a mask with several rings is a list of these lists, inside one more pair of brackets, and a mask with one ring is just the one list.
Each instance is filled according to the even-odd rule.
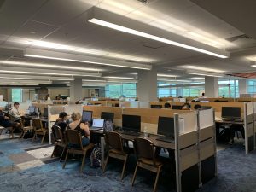
[[[203,81],[191,79],[199,74],[253,72],[255,7],[255,1],[241,0],[0,0],[1,84],[67,83],[74,77],[86,85],[136,82],[138,67],[148,65],[172,75],[158,79],[173,83]],[[225,50],[230,57],[98,26],[88,21],[95,8],[107,21],[200,49]],[[26,56],[31,53],[65,60]],[[217,69],[221,72],[212,73]]]

